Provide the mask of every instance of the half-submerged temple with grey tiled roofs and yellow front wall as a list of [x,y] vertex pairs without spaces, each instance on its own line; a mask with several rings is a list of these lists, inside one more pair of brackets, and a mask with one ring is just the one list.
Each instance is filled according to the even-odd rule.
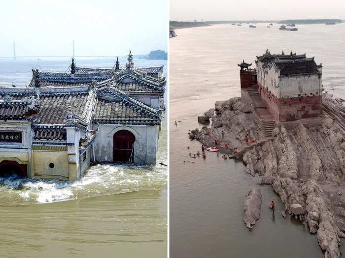
[[126,68],[83,69],[72,59],[68,73],[33,70],[29,87],[0,88],[0,176],[76,180],[91,161],[156,163],[162,67],[135,68],[130,53]]

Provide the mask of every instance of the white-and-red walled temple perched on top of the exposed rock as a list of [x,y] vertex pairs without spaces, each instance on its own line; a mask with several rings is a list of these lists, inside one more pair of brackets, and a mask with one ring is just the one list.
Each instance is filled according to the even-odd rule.
[[241,67],[242,97],[250,95],[257,108],[260,106],[259,97],[276,122],[322,114],[322,65],[317,65],[314,57],[292,52],[288,55],[284,52],[271,54],[267,50],[256,58],[254,69],[250,69],[251,64],[244,60],[238,64]]

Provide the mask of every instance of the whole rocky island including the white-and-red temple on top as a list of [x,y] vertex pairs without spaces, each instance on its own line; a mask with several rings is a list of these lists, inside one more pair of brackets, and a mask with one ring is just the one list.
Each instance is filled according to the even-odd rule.
[[[250,64],[239,64],[242,97],[217,101],[199,117],[202,123],[210,118],[211,126],[193,130],[189,137],[242,159],[246,172],[258,174],[258,184],[272,185],[280,196],[285,204],[282,216],[289,214],[308,224],[310,232],[317,234],[325,257],[338,258],[340,237],[345,236],[344,100],[322,93],[318,83],[322,66],[313,58],[290,54],[271,55],[267,51],[257,57],[257,71],[264,74],[268,69],[265,78],[256,69],[248,69]],[[299,77],[293,74],[296,63],[308,69],[299,71]],[[277,77],[271,68],[278,68],[275,71],[280,77],[274,83],[270,76]],[[299,78],[306,83],[313,76],[314,88],[298,84],[296,97],[291,87],[288,97],[276,94],[275,88],[285,94],[284,80]]]

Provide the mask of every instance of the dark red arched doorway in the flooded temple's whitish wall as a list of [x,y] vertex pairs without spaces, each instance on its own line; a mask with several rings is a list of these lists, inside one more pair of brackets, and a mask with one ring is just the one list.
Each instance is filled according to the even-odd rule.
[[120,130],[113,136],[113,161],[132,163],[136,137],[130,131]]

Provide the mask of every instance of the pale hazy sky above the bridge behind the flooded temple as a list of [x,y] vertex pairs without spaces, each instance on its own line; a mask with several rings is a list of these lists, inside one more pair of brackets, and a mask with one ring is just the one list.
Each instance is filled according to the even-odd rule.
[[167,51],[166,0],[6,0],[0,57],[148,54]]

